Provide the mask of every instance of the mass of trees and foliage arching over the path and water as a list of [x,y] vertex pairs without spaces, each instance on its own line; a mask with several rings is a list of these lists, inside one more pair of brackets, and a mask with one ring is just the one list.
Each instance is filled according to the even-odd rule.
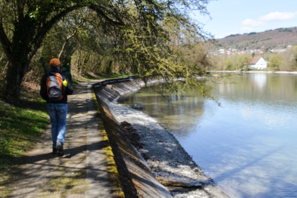
[[[5,93],[18,99],[34,55],[72,57],[79,72],[132,71],[165,79],[202,74],[205,34],[189,11],[209,0],[0,0]],[[189,56],[195,53],[195,58]]]

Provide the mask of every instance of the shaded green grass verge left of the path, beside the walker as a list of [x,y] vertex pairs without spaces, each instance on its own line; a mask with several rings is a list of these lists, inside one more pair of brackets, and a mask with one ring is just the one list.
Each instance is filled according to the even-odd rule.
[[48,125],[47,112],[40,110],[45,102],[37,99],[27,105],[34,109],[0,101],[0,172],[14,165]]

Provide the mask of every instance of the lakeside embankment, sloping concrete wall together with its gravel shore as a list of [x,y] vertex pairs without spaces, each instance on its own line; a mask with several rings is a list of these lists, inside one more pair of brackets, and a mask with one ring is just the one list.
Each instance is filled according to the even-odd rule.
[[170,132],[142,111],[116,102],[143,86],[136,76],[93,85],[125,196],[228,198]]

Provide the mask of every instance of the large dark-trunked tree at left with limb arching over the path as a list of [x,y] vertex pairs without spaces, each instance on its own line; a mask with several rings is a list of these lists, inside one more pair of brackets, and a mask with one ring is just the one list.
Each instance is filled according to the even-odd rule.
[[[173,62],[168,48],[166,30],[161,22],[175,19],[184,27],[195,26],[190,22],[189,10],[198,9],[207,14],[209,0],[0,0],[0,43],[9,61],[6,75],[6,95],[18,100],[20,85],[29,63],[41,47],[49,30],[68,13],[79,8],[94,10],[105,33],[116,33],[114,49],[130,56],[134,72],[142,75],[180,73],[178,65],[168,72]],[[196,25],[196,33],[203,32]],[[125,49],[126,47],[126,49]],[[171,69],[170,69],[171,70]],[[172,71],[173,71],[172,70]],[[178,72],[177,72],[178,70]],[[191,73],[191,72],[190,72]]]

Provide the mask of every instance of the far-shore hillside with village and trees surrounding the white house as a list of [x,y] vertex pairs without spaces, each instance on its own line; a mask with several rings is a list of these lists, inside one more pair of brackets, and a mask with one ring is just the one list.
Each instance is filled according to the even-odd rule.
[[297,71],[297,27],[230,35],[209,51],[214,70],[248,70],[254,56],[267,61],[267,70]]

